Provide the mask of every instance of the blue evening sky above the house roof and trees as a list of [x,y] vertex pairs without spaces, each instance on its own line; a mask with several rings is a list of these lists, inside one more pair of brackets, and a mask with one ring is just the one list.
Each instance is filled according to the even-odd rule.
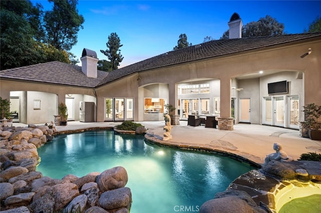
[[[32,2],[40,2],[45,10],[53,5]],[[99,59],[108,59],[100,49],[107,49],[108,35],[116,32],[123,44],[120,67],[173,50],[181,33],[192,44],[202,43],[205,36],[219,39],[234,12],[243,25],[271,15],[284,24],[286,33],[301,33],[321,16],[321,0],[79,0],[77,8],[85,22],[71,52],[80,60],[83,48],[88,48]]]

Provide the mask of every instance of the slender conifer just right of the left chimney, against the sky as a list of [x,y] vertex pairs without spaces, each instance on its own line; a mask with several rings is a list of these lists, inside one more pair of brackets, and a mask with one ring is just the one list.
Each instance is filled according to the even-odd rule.
[[[110,60],[109,62],[111,63],[111,70],[118,69],[120,62],[124,57],[120,54],[121,50],[119,48],[122,46],[122,44],[120,44],[120,38],[118,37],[116,32],[110,33],[110,35],[108,36],[108,42],[106,43],[106,46],[107,49],[101,49],[100,52],[106,55],[107,58]],[[104,63],[106,65],[106,62]]]

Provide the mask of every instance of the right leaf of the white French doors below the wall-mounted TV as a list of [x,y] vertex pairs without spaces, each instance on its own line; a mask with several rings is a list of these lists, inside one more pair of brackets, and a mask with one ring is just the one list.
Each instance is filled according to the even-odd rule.
[[273,120],[272,125],[284,127],[284,97],[276,96],[272,98]]

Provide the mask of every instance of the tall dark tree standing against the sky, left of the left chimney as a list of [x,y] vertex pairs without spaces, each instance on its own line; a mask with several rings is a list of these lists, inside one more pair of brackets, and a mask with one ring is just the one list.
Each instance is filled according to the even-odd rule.
[[82,15],[78,14],[76,8],[78,0],[49,0],[53,2],[53,10],[46,11],[45,42],[59,50],[70,50],[77,43],[77,33],[83,28],[85,21]]

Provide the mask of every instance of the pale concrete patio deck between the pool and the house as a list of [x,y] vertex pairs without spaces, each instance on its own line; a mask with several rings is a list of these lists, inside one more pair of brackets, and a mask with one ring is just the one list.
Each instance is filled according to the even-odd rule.
[[[181,120],[180,125],[173,125],[173,139],[163,141],[165,121],[139,121],[147,128],[146,137],[156,143],[176,145],[181,147],[200,147],[228,152],[247,158],[256,164],[262,164],[267,154],[275,152],[273,143],[283,145],[283,150],[295,160],[302,153],[321,153],[321,141],[311,140],[299,136],[294,129],[266,126],[259,124],[237,123],[234,130],[219,130],[201,126],[188,126],[187,121]],[[57,126],[57,131],[88,129],[94,127],[113,127],[121,122],[79,122],[68,121],[66,126]],[[25,126],[23,123],[14,123],[15,126]]]

